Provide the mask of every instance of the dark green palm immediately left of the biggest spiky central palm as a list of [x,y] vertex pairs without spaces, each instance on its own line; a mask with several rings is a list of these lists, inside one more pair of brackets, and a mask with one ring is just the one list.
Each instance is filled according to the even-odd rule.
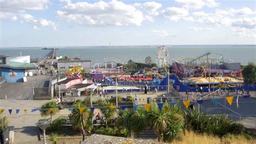
[[140,138],[140,132],[147,127],[147,112],[144,107],[138,107],[137,111],[132,115],[132,131]]

